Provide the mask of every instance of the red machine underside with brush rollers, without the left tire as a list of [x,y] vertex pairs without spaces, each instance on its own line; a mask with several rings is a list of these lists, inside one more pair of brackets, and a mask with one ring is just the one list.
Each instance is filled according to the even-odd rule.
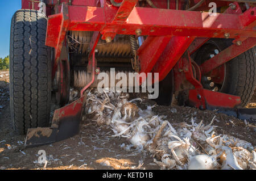
[[[22,9],[32,9],[32,3],[38,6],[36,2],[22,2]],[[231,71],[228,62],[248,50],[255,51],[254,1],[213,1],[212,6],[208,0],[44,3],[48,16],[46,45],[52,47],[53,54],[52,90],[57,103],[64,107],[55,110],[51,128],[28,129],[28,146],[75,135],[86,105],[84,91],[97,87],[98,73],[110,74],[110,68],[126,75],[159,73],[158,79],[152,79],[162,90],[156,100],[159,104],[170,104],[174,94],[180,105],[218,109],[255,120],[255,109],[242,108],[246,102],[243,97],[225,88]],[[211,7],[216,7],[216,14],[211,14]],[[204,54],[209,57],[200,59]],[[80,97],[68,104],[72,87],[80,91]],[[68,131],[65,125],[74,125],[74,129]],[[44,129],[51,129],[51,136],[44,136]]]

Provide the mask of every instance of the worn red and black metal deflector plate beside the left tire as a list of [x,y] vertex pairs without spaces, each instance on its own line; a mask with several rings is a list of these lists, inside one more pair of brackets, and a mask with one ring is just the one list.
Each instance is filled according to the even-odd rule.
[[85,96],[82,96],[71,104],[55,110],[51,127],[28,129],[25,147],[51,144],[79,133],[85,101]]

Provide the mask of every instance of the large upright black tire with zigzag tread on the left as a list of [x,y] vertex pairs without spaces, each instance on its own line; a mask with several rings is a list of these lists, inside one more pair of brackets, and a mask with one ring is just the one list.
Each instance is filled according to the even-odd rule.
[[10,111],[14,128],[47,127],[51,110],[51,52],[45,45],[47,17],[18,10],[11,19]]

